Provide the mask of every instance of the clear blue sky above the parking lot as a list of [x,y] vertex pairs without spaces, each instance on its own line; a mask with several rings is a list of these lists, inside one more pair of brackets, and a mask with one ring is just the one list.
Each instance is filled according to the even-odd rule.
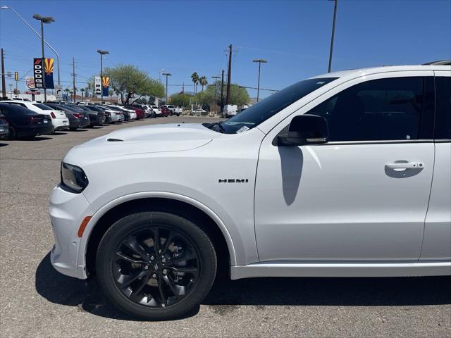
[[[132,63],[159,77],[172,73],[189,87],[196,71],[209,77],[227,69],[225,50],[233,44],[232,82],[282,89],[302,78],[326,73],[333,1],[7,1],[36,30],[34,13],[54,16],[44,37],[61,56],[63,87],[71,86],[72,58],[77,81],[104,66]],[[0,45],[6,70],[22,76],[41,55],[39,39],[11,10],[0,11]],[[46,56],[53,56],[49,49]],[[373,65],[419,64],[451,58],[451,1],[338,1],[333,70]],[[55,80],[56,80],[56,74]],[[15,83],[13,80],[7,80]],[[79,87],[84,84],[78,84]],[[19,85],[22,89],[23,85]],[[249,90],[256,96],[254,90]],[[261,92],[261,96],[268,95]]]

